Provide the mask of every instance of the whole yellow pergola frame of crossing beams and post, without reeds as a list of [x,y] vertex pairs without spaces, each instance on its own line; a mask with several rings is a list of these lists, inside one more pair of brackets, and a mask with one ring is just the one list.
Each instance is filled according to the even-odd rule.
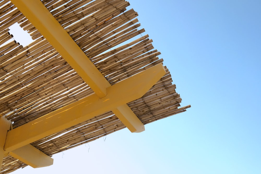
[[32,167],[52,165],[52,158],[29,143],[110,110],[131,132],[145,130],[143,123],[126,103],[142,97],[165,75],[165,68],[162,64],[111,86],[41,1],[11,0],[11,2],[92,88],[95,94],[12,130],[9,130],[11,122],[3,116],[0,117],[1,160],[4,155],[10,154]]

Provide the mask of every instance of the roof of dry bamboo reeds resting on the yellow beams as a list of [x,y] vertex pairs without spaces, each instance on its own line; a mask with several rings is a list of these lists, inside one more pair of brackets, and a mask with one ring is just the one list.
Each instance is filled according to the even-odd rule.
[[[41,0],[90,61],[114,85],[157,64],[161,54],[140,28],[138,13],[124,0]],[[0,114],[13,129],[90,96],[94,91],[8,0],[0,1]],[[22,46],[9,27],[18,22],[34,40]],[[143,124],[186,111],[166,74],[143,97],[127,103]],[[96,140],[126,126],[112,111],[32,142],[53,154]],[[1,174],[27,164],[8,155]]]

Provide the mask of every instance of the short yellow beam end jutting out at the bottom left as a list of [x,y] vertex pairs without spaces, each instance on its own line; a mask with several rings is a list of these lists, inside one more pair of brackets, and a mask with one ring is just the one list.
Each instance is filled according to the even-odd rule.
[[54,163],[54,159],[30,144],[11,151],[10,155],[33,168],[46,167]]

